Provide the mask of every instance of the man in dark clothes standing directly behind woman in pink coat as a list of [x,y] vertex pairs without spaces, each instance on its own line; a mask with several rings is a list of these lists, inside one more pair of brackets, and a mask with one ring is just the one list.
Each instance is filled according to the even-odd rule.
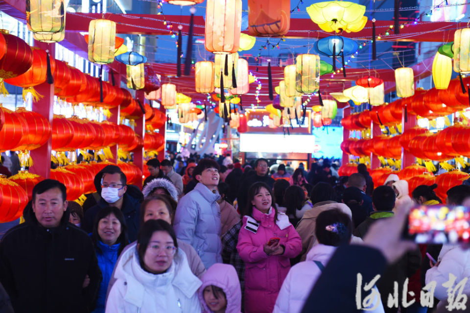
[[268,160],[259,158],[255,162],[255,174],[249,175],[240,182],[237,193],[238,210],[241,216],[244,215],[246,209],[246,197],[248,196],[248,189],[251,185],[257,182],[263,182],[268,185],[271,189],[273,188],[275,180],[267,175],[268,174]]

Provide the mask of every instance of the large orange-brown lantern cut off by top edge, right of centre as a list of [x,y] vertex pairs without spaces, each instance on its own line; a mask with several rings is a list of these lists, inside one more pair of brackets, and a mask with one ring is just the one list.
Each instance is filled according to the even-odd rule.
[[248,30],[253,36],[282,36],[290,26],[290,0],[249,0]]

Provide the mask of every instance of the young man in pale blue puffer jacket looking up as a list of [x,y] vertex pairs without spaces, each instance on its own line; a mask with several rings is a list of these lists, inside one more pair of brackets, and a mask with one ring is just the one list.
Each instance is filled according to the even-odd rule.
[[188,242],[209,268],[222,263],[220,241],[220,207],[217,200],[219,165],[212,159],[202,159],[193,171],[196,187],[178,202],[173,227],[176,237]]

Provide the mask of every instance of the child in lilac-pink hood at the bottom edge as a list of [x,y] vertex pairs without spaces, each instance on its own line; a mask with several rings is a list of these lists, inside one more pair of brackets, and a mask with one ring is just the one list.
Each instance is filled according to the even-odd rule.
[[235,267],[216,263],[202,277],[197,293],[203,313],[241,313],[241,289]]

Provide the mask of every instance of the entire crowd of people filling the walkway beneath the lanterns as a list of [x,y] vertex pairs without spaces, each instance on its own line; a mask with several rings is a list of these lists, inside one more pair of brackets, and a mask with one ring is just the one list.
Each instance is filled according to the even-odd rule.
[[0,241],[0,312],[466,309],[455,301],[470,295],[470,250],[400,236],[413,203],[465,205],[470,186],[409,194],[395,174],[374,186],[365,165],[339,177],[329,159],[308,172],[230,154],[146,164],[143,186],[106,166],[83,206],[56,180],[34,187]]

